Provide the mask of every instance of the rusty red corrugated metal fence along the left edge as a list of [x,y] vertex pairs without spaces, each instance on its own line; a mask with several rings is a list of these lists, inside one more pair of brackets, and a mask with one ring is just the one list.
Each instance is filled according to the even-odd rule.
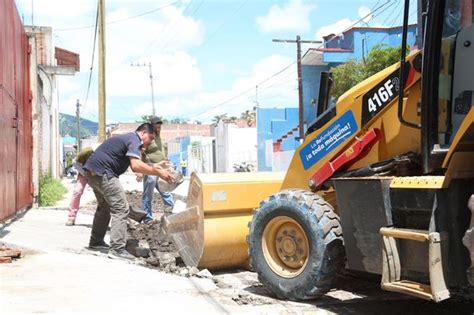
[[0,222],[33,201],[28,49],[15,2],[0,1]]

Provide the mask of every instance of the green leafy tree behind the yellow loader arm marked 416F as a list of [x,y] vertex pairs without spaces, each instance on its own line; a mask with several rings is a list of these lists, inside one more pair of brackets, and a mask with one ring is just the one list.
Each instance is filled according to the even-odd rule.
[[[407,51],[409,47],[407,47]],[[333,74],[333,85],[331,96],[338,99],[364,79],[400,61],[401,47],[385,47],[378,44],[369,52],[364,62],[349,60],[346,63],[331,69]]]

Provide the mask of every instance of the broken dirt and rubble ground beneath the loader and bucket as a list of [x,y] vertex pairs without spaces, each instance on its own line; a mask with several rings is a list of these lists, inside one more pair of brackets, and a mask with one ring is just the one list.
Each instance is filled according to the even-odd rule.
[[[141,208],[141,192],[127,192],[129,204]],[[175,198],[182,198],[175,195]],[[94,209],[95,205],[86,205]],[[257,275],[246,270],[210,273],[186,267],[171,240],[161,229],[161,218],[171,213],[158,193],[153,199],[155,220],[151,223],[129,222],[127,250],[148,268],[183,277],[212,279],[219,292],[241,305],[284,304],[294,309],[313,305],[315,309],[341,314],[474,314],[474,301],[455,297],[443,303],[414,299],[406,295],[382,291],[379,277],[367,277],[345,272],[336,288],[315,301],[291,302],[278,300],[258,281]],[[93,211],[93,210],[92,210]]]

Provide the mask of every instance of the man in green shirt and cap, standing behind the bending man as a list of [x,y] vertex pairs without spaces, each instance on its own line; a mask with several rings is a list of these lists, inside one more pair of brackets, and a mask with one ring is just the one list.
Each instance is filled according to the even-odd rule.
[[[161,143],[161,125],[163,121],[156,116],[150,118],[150,123],[155,128],[156,137],[155,140],[150,143],[144,153],[144,160],[146,163],[155,164],[160,163],[166,160],[166,155],[163,150],[163,145]],[[158,176],[154,175],[145,175],[143,177],[143,195],[142,195],[142,208],[146,212],[145,222],[153,220],[153,209],[152,209],[152,201],[153,201],[153,194],[156,190],[160,193],[161,198],[163,198],[163,202],[170,206],[174,206],[174,199],[173,195],[169,192],[160,191],[158,187]]]

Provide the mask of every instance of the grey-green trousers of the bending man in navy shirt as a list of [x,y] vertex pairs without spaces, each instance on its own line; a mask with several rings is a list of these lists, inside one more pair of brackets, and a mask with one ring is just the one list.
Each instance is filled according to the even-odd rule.
[[110,219],[110,247],[116,251],[125,249],[127,241],[127,216],[129,205],[125,191],[117,177],[88,175],[88,184],[97,198],[97,211],[92,224],[91,239],[104,239]]

